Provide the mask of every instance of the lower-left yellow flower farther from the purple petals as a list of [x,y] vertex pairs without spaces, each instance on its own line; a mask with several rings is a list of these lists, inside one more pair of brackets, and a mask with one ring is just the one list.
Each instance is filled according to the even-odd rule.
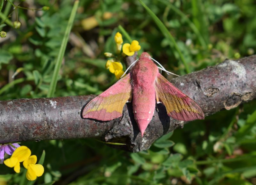
[[36,177],[40,177],[44,173],[44,167],[41,164],[36,164],[36,161],[36,155],[31,155],[23,162],[23,166],[28,169],[26,177],[29,181],[36,180]]

